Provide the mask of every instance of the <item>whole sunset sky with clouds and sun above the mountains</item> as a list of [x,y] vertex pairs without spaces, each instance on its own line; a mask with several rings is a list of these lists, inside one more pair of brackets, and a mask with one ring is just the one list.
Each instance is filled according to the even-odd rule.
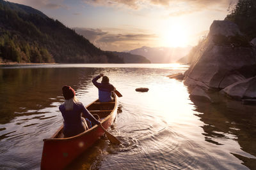
[[195,46],[237,0],[10,0],[42,11],[102,50]]

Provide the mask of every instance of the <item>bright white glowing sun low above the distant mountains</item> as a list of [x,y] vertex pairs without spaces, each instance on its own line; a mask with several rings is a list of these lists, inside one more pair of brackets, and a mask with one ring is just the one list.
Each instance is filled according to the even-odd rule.
[[164,29],[161,35],[161,44],[172,47],[187,46],[188,31],[186,31],[186,27],[181,24],[172,24]]

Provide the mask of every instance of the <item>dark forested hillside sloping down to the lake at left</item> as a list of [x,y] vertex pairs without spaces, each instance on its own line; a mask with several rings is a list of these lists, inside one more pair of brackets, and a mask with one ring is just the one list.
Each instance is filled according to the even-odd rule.
[[0,0],[0,62],[124,63],[58,20]]

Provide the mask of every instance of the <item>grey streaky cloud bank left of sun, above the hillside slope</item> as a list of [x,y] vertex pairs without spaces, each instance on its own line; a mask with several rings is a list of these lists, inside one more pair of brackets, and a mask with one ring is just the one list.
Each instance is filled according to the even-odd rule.
[[111,51],[132,50],[138,46],[150,45],[148,42],[154,43],[154,39],[158,38],[155,34],[114,34],[101,29],[79,27],[74,29],[93,45]]

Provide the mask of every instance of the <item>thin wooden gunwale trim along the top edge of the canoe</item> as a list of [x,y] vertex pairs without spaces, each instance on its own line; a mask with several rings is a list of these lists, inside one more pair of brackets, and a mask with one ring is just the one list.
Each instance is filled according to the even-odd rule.
[[[114,94],[115,95],[115,94]],[[93,103],[95,103],[96,101],[98,101],[99,99],[93,101],[92,103],[88,104],[86,106],[86,108],[88,108],[89,106],[91,106]],[[116,95],[115,95],[115,100],[116,100]],[[107,117],[104,118],[104,120],[101,121],[101,124],[103,125],[104,122],[106,122],[108,120],[109,117],[111,117],[111,115],[113,114],[113,112],[116,110],[116,105],[117,105],[117,102],[109,102],[109,103],[115,103],[115,106],[113,108],[113,110],[111,111],[111,113],[109,113],[109,115]],[[106,103],[108,104],[108,103]],[[80,134],[77,134],[76,136],[72,136],[72,137],[69,137],[69,138],[54,138],[54,136],[57,136],[61,129],[63,129],[63,125],[61,125],[61,127],[58,129],[58,131],[56,131],[51,138],[47,138],[47,139],[43,139],[43,141],[61,141],[61,140],[64,140],[64,141],[68,141],[68,140],[72,140],[72,139],[76,139],[76,138],[79,138],[80,136],[83,136],[84,134],[90,132],[90,131],[93,131],[94,129],[97,129],[99,127],[99,125],[94,125],[92,128],[80,133]]]

